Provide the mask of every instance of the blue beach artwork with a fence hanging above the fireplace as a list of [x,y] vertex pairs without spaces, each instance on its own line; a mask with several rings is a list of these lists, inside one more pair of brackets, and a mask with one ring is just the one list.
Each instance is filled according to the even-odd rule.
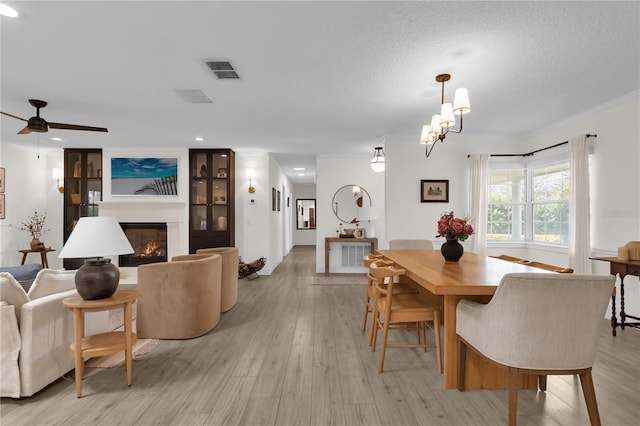
[[112,158],[111,194],[178,195],[178,159]]

